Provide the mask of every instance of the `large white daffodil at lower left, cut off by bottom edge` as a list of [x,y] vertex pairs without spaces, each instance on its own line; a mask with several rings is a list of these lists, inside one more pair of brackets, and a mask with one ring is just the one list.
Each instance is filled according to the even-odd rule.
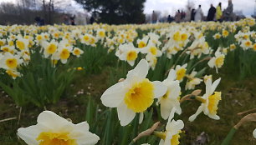
[[50,111],[41,112],[36,125],[18,128],[18,137],[28,145],[94,145],[100,140],[87,122],[74,124]]

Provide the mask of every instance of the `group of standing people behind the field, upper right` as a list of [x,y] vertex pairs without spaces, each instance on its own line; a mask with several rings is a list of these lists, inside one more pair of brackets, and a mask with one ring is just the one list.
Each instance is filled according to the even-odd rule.
[[222,10],[222,2],[218,3],[217,7],[213,7],[211,4],[211,7],[208,10],[207,18],[204,18],[202,13],[202,6],[199,5],[197,9],[191,9],[191,7],[187,8],[187,12],[181,12],[180,10],[177,11],[175,14],[175,17],[172,18],[170,15],[167,18],[167,22],[171,23],[173,20],[176,23],[181,22],[201,22],[201,21],[232,21],[233,16],[233,3],[232,0],[228,0],[228,7],[223,11]]

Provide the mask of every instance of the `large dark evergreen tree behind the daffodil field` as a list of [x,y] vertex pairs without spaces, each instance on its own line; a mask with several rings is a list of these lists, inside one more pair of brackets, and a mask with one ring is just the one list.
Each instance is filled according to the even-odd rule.
[[92,15],[99,16],[99,23],[144,23],[146,0],[76,0]]

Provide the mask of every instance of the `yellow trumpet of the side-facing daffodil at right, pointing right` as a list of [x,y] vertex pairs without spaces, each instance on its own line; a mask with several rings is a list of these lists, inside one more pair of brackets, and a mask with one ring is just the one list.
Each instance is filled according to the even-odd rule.
[[211,114],[216,114],[218,110],[218,102],[222,100],[222,92],[214,92],[214,95],[208,97],[208,110]]

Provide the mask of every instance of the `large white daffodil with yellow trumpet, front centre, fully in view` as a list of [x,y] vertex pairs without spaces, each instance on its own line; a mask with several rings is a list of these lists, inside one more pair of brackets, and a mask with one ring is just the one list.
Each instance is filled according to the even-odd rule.
[[117,107],[121,126],[129,124],[136,112],[144,112],[154,102],[154,98],[166,93],[162,82],[151,82],[146,78],[149,66],[145,59],[128,72],[125,81],[109,87],[100,97],[106,107]]

